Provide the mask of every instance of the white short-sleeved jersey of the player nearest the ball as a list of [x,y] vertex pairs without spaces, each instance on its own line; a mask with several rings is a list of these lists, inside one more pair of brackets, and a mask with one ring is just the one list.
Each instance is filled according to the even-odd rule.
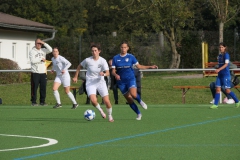
[[109,70],[107,61],[99,57],[98,60],[94,60],[93,57],[84,59],[80,65],[87,69],[86,73],[86,85],[89,83],[98,83],[99,81],[105,81],[104,76],[100,75],[100,72]]

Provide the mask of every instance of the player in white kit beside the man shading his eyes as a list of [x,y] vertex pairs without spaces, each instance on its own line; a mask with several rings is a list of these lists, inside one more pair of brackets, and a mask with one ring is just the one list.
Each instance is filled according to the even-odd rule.
[[53,108],[62,107],[58,88],[61,84],[63,84],[65,93],[68,95],[68,97],[71,99],[73,103],[72,109],[76,109],[78,107],[78,104],[72,92],[70,92],[71,78],[68,72],[68,68],[72,64],[66,58],[59,55],[58,48],[56,47],[53,48],[52,64],[53,64],[52,73],[53,71],[56,72],[56,78],[53,83],[53,95],[57,101],[56,105]]

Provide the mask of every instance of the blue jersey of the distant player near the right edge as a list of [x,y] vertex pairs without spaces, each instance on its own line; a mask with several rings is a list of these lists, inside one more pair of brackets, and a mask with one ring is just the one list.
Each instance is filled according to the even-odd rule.
[[218,55],[218,66],[219,66],[219,68],[222,67],[226,63],[225,62],[226,60],[228,60],[228,66],[226,68],[224,68],[223,70],[221,70],[220,72],[218,72],[219,77],[230,76],[230,70],[229,70],[230,57],[229,57],[229,54],[226,52],[225,54],[219,54]]

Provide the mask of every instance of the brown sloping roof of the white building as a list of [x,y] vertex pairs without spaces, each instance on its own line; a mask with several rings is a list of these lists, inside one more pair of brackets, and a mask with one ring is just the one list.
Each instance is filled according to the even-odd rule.
[[40,32],[56,32],[53,26],[0,12],[0,27]]

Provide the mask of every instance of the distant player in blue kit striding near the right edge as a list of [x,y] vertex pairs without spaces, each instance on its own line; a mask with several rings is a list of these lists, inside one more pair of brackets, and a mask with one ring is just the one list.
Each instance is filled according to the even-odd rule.
[[231,75],[229,70],[230,57],[227,52],[227,46],[224,43],[220,43],[219,51],[220,51],[220,54],[218,55],[219,68],[215,70],[215,72],[218,73],[216,83],[215,83],[215,86],[216,86],[215,101],[214,101],[214,105],[212,105],[210,108],[211,109],[218,108],[218,101],[220,99],[221,86],[225,86],[226,93],[233,98],[233,100],[235,101],[235,105],[238,108],[240,106],[240,102],[237,99],[236,95],[230,90],[232,82],[231,82]]

